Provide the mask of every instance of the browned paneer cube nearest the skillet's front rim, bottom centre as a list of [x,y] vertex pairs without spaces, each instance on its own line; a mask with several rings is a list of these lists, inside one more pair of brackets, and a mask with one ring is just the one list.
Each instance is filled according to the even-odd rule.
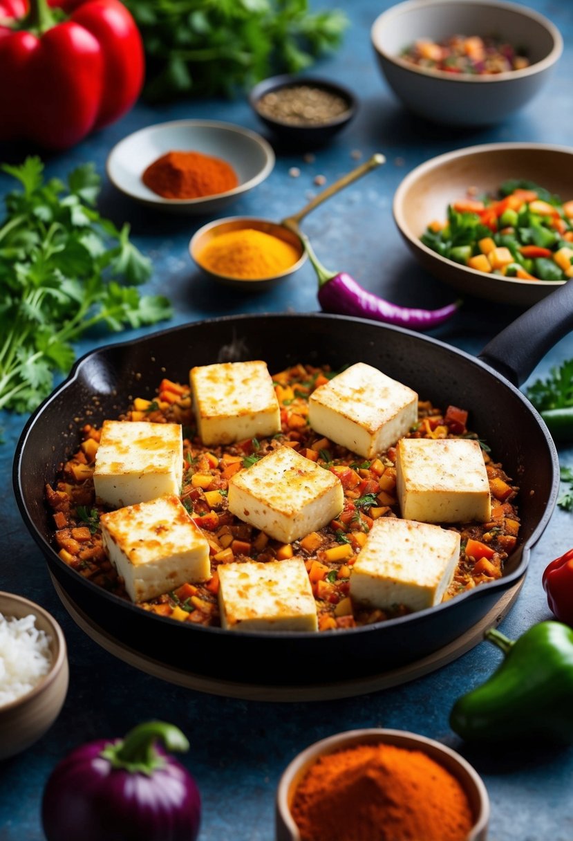
[[317,631],[316,602],[302,558],[218,566],[221,624],[230,631]]

